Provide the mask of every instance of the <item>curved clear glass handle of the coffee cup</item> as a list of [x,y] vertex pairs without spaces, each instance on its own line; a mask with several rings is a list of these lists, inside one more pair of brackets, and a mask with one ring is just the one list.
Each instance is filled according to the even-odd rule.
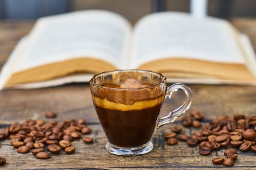
[[175,120],[179,116],[183,115],[191,106],[191,103],[193,101],[192,91],[190,90],[189,87],[187,87],[186,85],[184,85],[182,83],[176,83],[176,84],[169,86],[166,90],[165,99],[170,99],[172,97],[173,93],[178,90],[181,90],[186,94],[186,100],[180,107],[178,107],[177,109],[175,109],[173,111],[170,111],[167,116],[161,117],[158,120],[156,129],[158,129],[159,127],[161,127],[165,124],[175,122]]

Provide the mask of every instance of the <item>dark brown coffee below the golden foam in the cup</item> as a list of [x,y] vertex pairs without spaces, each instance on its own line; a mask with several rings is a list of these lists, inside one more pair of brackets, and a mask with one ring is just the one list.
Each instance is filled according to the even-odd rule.
[[120,111],[94,105],[110,143],[124,148],[138,147],[150,141],[161,108]]

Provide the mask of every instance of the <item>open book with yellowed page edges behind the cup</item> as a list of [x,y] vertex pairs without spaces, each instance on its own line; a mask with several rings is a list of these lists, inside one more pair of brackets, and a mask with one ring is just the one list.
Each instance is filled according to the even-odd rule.
[[88,10],[38,19],[3,67],[0,88],[88,82],[114,69],[153,70],[167,82],[256,85],[251,44],[225,20],[162,12],[132,27],[113,12]]

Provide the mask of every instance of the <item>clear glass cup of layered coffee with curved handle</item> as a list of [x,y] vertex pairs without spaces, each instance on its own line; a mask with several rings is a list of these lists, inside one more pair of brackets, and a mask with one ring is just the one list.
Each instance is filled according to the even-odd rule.
[[[193,100],[186,85],[167,87],[163,75],[147,70],[102,72],[90,80],[90,87],[95,110],[109,140],[105,148],[115,155],[134,156],[152,151],[153,132],[173,123]],[[164,99],[170,99],[178,90],[186,94],[185,102],[159,118]]]

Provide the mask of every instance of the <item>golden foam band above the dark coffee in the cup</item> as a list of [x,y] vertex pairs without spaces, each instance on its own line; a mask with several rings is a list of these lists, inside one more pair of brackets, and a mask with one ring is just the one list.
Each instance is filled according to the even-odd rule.
[[136,101],[133,104],[122,104],[122,103],[115,103],[107,100],[106,98],[101,99],[94,96],[93,102],[95,105],[111,110],[120,110],[120,111],[130,111],[130,110],[142,110],[147,108],[152,108],[157,105],[160,105],[164,100],[164,95],[159,96],[156,99],[152,100],[143,100],[143,101]]

